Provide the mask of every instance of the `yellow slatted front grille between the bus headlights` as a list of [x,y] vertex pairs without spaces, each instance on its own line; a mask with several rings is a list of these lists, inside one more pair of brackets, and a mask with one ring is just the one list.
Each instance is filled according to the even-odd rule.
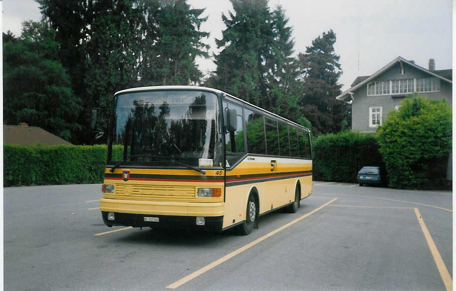
[[115,196],[150,201],[195,200],[195,186],[115,184]]

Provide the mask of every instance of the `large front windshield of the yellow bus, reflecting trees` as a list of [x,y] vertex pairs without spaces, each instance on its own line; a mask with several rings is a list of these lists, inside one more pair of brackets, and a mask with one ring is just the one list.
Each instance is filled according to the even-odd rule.
[[220,166],[223,152],[214,93],[131,92],[118,95],[114,104],[108,164]]

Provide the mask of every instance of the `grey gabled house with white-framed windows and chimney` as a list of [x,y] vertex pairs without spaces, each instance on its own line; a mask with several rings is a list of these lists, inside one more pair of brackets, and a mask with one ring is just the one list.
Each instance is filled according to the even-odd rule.
[[429,99],[446,99],[452,105],[453,71],[435,70],[434,59],[425,69],[397,57],[370,76],[358,76],[351,88],[336,99],[351,103],[351,128],[374,133],[391,110],[397,110],[406,95],[418,92]]

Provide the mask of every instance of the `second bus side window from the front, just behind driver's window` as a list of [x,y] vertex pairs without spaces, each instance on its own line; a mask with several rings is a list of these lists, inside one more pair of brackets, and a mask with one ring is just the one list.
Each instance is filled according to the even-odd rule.
[[263,116],[244,109],[247,135],[247,152],[266,154],[266,143],[264,141]]

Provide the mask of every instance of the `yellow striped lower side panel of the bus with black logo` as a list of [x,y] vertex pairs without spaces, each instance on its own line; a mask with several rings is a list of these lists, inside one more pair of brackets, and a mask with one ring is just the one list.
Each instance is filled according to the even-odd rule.
[[309,196],[312,189],[311,160],[246,156],[227,171],[223,227],[245,220],[247,199],[252,191],[258,194],[261,215],[294,202],[298,182],[301,199]]

